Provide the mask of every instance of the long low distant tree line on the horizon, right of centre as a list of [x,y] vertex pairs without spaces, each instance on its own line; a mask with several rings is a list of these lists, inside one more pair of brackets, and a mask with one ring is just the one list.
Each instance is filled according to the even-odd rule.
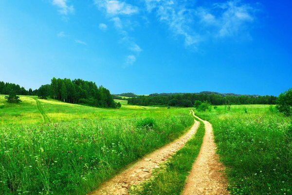
[[220,94],[170,94],[170,95],[152,95],[137,96],[128,98],[128,104],[132,105],[164,105],[193,107],[196,100],[208,102],[212,105],[230,105],[230,104],[275,104],[274,96],[248,96],[248,95],[220,95]]

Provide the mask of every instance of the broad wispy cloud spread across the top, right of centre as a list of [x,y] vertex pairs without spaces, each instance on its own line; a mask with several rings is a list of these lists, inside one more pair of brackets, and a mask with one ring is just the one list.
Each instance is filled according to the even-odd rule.
[[[192,4],[191,4],[192,3]],[[195,7],[187,0],[145,0],[146,10],[155,13],[186,46],[197,47],[206,39],[238,35],[248,22],[254,21],[255,8],[241,0]]]

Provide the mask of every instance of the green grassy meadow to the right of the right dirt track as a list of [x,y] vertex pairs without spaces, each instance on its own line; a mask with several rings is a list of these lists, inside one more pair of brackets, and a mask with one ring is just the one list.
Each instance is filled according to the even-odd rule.
[[213,125],[232,194],[292,194],[291,118],[268,105],[218,106],[196,115]]

